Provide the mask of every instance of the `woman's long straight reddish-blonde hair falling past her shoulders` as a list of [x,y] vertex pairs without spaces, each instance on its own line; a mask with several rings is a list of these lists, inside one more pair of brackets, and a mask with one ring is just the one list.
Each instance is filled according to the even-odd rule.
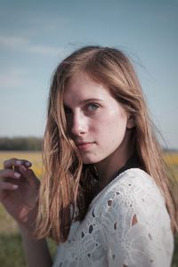
[[86,46],[62,61],[53,75],[44,134],[45,175],[40,191],[36,236],[51,235],[58,242],[65,241],[72,221],[84,218],[92,200],[97,174],[93,165],[83,166],[77,147],[69,137],[63,106],[65,85],[78,71],[108,88],[134,117],[135,153],[142,169],[153,177],[162,192],[172,228],[178,231],[175,201],[161,150],[131,61],[117,49]]

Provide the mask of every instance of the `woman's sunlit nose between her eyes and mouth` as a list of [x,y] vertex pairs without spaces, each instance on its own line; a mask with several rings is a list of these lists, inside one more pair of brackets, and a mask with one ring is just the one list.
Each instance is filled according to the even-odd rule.
[[73,115],[71,134],[81,135],[85,134],[87,131],[87,119],[84,114],[77,113]]

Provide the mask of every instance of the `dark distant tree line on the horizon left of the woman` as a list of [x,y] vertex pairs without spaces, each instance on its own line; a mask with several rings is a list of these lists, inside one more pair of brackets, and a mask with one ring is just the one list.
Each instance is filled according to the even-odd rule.
[[42,138],[0,137],[0,150],[42,150]]

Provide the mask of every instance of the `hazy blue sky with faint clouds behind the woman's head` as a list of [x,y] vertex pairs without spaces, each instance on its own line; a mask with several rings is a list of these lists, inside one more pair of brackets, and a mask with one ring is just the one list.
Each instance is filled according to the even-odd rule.
[[43,136],[53,70],[88,44],[129,55],[159,141],[178,149],[178,0],[0,0],[0,137]]

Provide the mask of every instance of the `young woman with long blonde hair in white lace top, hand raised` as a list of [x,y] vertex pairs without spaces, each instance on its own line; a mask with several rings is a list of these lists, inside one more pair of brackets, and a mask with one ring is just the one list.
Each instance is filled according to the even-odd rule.
[[[28,266],[171,265],[177,206],[124,53],[86,46],[61,62],[41,186],[30,166],[12,158],[0,173],[1,201],[19,223]],[[59,244],[54,263],[46,236]]]

